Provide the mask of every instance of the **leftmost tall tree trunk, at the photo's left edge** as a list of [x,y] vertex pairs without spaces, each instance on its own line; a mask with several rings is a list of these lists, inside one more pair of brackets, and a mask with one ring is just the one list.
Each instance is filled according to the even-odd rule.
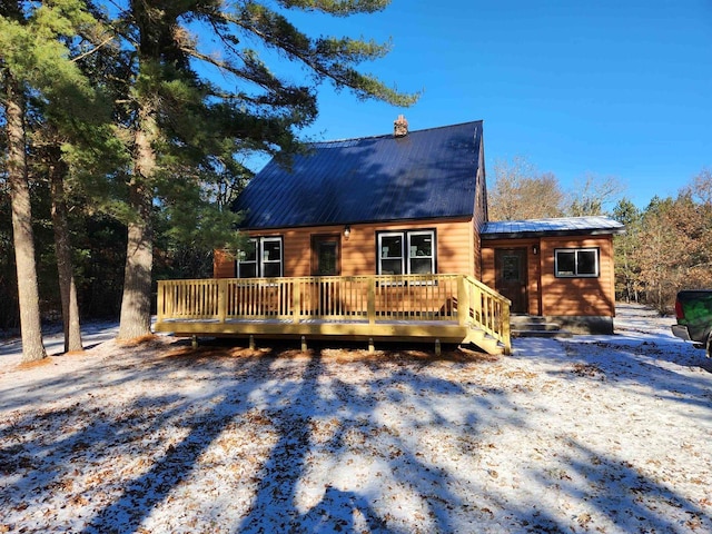
[[23,101],[20,88],[9,72],[6,72],[4,90],[8,181],[10,184],[10,201],[12,202],[12,235],[18,270],[22,362],[37,362],[46,358],[47,352],[42,345],[32,208],[27,179]]

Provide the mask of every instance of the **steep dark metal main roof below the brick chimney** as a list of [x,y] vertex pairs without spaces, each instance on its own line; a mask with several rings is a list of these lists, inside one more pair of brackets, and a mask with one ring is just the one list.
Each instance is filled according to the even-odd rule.
[[482,121],[313,144],[267,164],[233,209],[253,229],[472,216],[481,144]]

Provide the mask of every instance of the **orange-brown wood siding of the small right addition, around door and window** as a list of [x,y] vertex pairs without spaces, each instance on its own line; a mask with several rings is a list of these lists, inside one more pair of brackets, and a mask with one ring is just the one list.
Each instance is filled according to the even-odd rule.
[[[496,239],[482,243],[482,281],[495,288],[495,249],[527,249],[528,314],[537,316],[613,317],[615,315],[613,239],[611,236]],[[538,254],[534,254],[534,246]],[[596,278],[556,278],[554,250],[600,249]]]

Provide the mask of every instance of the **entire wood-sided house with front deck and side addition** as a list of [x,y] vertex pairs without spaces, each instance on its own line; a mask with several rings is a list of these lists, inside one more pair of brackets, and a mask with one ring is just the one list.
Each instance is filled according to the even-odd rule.
[[248,246],[216,251],[214,280],[159,285],[157,329],[490,352],[510,349],[510,307],[612,329],[622,226],[490,222],[482,121],[408,131],[400,116],[385,136],[313,144],[267,164],[234,209]]

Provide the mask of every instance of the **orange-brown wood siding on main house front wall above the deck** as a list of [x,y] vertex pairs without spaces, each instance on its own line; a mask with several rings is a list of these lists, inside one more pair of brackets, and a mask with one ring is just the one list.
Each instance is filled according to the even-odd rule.
[[[250,237],[281,236],[284,238],[284,276],[312,275],[312,236],[338,233],[342,236],[342,275],[363,276],[376,273],[376,233],[434,229],[437,241],[437,273],[476,276],[478,258],[475,250],[473,220],[418,220],[350,225],[350,235],[344,237],[344,226],[285,228],[248,231]],[[216,254],[214,276],[235,276],[234,260]]]

